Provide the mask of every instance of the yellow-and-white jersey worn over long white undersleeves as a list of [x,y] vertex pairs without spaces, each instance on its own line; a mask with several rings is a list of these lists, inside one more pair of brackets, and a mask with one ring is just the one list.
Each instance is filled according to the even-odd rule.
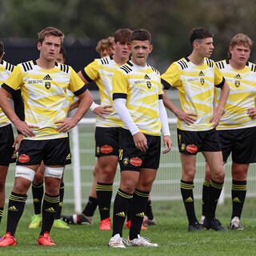
[[160,74],[154,67],[130,61],[121,66],[114,74],[113,98],[126,98],[131,118],[143,134],[161,134],[158,100],[162,99],[162,89]]

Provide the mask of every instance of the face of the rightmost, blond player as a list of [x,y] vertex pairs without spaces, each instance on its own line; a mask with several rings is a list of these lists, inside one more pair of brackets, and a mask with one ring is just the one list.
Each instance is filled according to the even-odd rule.
[[236,45],[230,46],[231,59],[237,65],[246,65],[250,57],[250,46],[248,45]]

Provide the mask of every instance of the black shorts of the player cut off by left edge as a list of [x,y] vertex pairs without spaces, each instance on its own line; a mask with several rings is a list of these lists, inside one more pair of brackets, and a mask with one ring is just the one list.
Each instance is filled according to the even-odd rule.
[[0,127],[0,166],[9,166],[11,162],[16,162],[13,144],[14,133],[11,124]]

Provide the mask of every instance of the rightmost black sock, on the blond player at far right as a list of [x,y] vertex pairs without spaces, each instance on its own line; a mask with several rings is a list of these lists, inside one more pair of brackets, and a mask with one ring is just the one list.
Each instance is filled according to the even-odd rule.
[[243,203],[246,199],[246,184],[246,181],[232,181],[233,211],[231,219],[234,218],[234,216],[241,218]]

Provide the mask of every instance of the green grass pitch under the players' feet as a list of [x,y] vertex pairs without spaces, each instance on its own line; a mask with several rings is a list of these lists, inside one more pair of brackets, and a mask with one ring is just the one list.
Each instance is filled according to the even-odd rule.
[[[202,230],[200,232],[187,232],[186,213],[182,202],[153,202],[154,215],[157,226],[150,226],[142,231],[142,236],[148,237],[152,242],[158,243],[158,248],[126,248],[110,249],[107,247],[111,231],[98,230],[98,210],[91,226],[70,226],[70,230],[51,231],[51,237],[57,246],[36,246],[40,229],[30,230],[32,205],[27,204],[22,219],[18,225],[16,238],[18,245],[0,248],[0,255],[255,255],[256,254],[256,208],[255,200],[246,200],[243,211],[242,224],[246,230],[230,230],[216,232]],[[196,202],[198,217],[201,206]],[[228,226],[230,222],[231,204],[226,199],[225,205],[218,206],[218,216],[222,224]],[[73,206],[65,204],[64,214],[71,214]],[[6,230],[6,214],[0,225],[1,234]],[[127,238],[128,230],[124,230],[123,237]]]

